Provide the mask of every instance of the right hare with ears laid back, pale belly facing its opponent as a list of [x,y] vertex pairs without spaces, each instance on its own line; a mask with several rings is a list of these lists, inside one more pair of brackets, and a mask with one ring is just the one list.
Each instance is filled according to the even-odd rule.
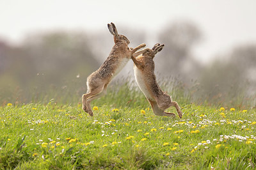
[[[156,82],[156,75],[154,73],[155,64],[153,59],[157,52],[161,51],[163,47],[164,45],[157,43],[152,49],[143,49],[133,54],[131,58],[134,62],[133,68],[135,79],[141,91],[152,106],[154,114],[157,116],[175,117],[175,114],[172,112],[164,112],[164,110],[174,106],[179,117],[182,118],[179,104],[172,101],[172,97],[164,93]],[[139,56],[140,54],[142,55]]]

